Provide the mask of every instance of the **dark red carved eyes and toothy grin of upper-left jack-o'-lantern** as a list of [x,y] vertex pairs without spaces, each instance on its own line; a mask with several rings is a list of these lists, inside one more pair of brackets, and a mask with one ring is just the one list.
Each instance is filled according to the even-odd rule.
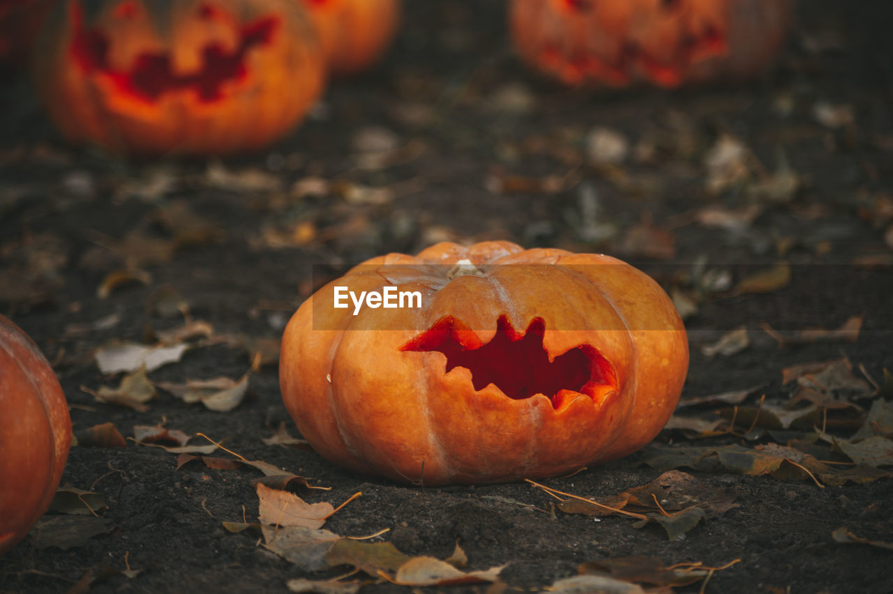
[[[136,18],[135,4],[124,3],[119,7],[119,18]],[[219,18],[219,11],[210,4],[203,4],[199,12],[202,19]],[[226,51],[219,44],[202,48],[203,68],[188,74],[179,74],[171,68],[171,55],[146,52],[139,54],[129,70],[113,70],[109,66],[109,37],[99,29],[85,29],[79,4],[72,4],[71,22],[74,35],[71,54],[83,71],[101,73],[113,81],[122,94],[146,103],[154,103],[164,93],[192,89],[203,103],[213,103],[222,98],[222,86],[228,81],[242,81],[248,76],[245,56],[253,48],[269,45],[279,25],[279,19],[270,16],[246,23],[240,27],[239,44],[234,51]]]

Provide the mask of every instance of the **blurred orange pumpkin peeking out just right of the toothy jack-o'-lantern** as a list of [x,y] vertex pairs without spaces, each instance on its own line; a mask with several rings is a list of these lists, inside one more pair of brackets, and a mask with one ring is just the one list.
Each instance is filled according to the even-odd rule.
[[302,0],[335,74],[353,74],[379,59],[396,32],[400,0]]

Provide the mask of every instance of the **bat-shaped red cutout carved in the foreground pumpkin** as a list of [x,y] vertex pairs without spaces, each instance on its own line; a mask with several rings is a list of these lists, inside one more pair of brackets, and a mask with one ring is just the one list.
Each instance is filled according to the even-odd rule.
[[596,349],[580,345],[549,360],[543,348],[546,323],[534,318],[527,331],[517,332],[505,316],[497,320],[497,333],[486,344],[462,321],[441,318],[407,342],[401,351],[438,351],[447,356],[447,373],[454,367],[472,372],[472,384],[480,391],[494,384],[514,400],[544,394],[554,408],[575,393],[600,400],[617,391],[613,367]]

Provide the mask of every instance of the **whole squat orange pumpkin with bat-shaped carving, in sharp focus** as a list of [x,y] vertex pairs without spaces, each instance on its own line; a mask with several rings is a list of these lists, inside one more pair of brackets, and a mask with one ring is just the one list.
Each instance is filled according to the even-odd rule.
[[[478,272],[447,278],[466,262]],[[333,307],[343,285],[396,285],[423,305],[354,316]],[[499,483],[645,445],[688,364],[672,301],[620,260],[438,243],[368,260],[305,301],[283,334],[280,387],[305,439],[340,466],[404,483]]]

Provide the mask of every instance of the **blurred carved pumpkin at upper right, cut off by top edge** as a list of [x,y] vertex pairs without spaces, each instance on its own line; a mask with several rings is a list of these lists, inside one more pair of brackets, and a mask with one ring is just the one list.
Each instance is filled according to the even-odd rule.
[[522,60],[571,86],[745,78],[772,62],[794,0],[513,0]]

